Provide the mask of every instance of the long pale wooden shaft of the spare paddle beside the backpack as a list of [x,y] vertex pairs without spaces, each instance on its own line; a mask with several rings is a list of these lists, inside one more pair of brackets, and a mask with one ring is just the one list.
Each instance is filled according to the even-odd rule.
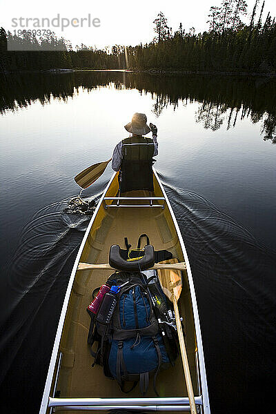
[[192,414],[197,414],[197,408],[195,407],[195,395],[193,391],[193,384],[192,384],[192,380],[190,377],[190,368],[189,368],[189,363],[188,363],[186,345],[185,345],[182,325],[181,325],[180,317],[179,317],[177,299],[175,299],[175,296],[173,296],[172,302],[173,302],[173,307],[175,309],[175,322],[177,323],[177,333],[178,333],[178,339],[179,339],[179,345],[180,345],[180,351],[181,351],[182,364],[184,368],[186,386],[187,386],[187,391],[188,391],[188,397],[189,397],[189,402],[190,402],[190,412]]

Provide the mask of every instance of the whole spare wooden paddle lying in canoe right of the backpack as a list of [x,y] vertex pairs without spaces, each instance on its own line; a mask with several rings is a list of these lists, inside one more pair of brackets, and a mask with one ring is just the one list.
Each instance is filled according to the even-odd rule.
[[[177,259],[165,260],[164,262],[160,263],[167,264],[168,266],[168,264],[177,263]],[[197,414],[197,409],[195,408],[195,395],[193,391],[193,384],[190,377],[190,368],[188,363],[186,345],[184,341],[182,326],[179,317],[179,310],[177,306],[177,302],[182,290],[181,272],[179,272],[179,270],[162,269],[157,270],[157,273],[162,289],[164,290],[166,297],[168,297],[170,302],[173,303],[173,307],[175,309],[175,322],[177,324],[177,333],[181,351],[181,358],[190,402],[190,412],[192,414]]]

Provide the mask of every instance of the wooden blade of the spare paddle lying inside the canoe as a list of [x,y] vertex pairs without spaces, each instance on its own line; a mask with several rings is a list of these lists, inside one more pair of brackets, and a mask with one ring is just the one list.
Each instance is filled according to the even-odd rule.
[[[169,259],[160,264],[173,264],[178,263],[177,259]],[[161,269],[157,270],[159,282],[161,287],[170,302],[172,302],[173,297],[178,301],[179,296],[182,290],[182,277],[181,271],[179,270],[170,270],[170,269]]]

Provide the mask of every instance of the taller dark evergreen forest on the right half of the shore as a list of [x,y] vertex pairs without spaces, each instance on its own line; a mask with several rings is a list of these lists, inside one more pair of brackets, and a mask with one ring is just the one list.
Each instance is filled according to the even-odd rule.
[[248,26],[245,0],[223,0],[221,7],[211,7],[208,32],[186,33],[180,23],[172,34],[168,21],[159,13],[155,23],[157,37],[130,53],[130,66],[141,70],[176,70],[191,72],[249,72],[276,74],[276,23],[268,13],[264,23],[264,2],[257,16],[256,0]]

